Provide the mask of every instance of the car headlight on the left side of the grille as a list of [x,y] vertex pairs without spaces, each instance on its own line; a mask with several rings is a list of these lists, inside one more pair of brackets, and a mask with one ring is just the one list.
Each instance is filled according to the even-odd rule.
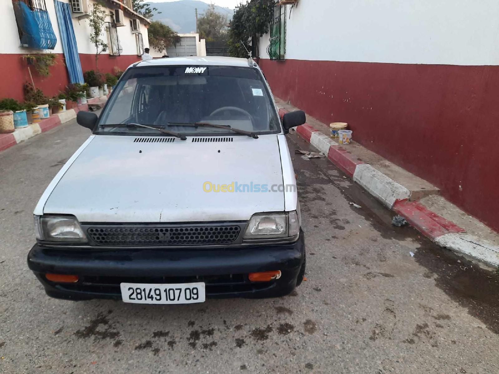
[[34,216],[36,238],[47,241],[86,242],[87,237],[72,216]]

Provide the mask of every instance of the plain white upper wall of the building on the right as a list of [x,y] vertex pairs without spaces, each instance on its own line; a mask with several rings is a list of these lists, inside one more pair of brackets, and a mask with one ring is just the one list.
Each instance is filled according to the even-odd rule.
[[287,7],[286,59],[499,64],[497,0],[300,1],[291,18]]

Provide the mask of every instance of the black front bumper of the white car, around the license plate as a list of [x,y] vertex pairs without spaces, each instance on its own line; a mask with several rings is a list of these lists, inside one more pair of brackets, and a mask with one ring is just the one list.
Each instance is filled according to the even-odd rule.
[[[243,248],[82,251],[35,244],[28,267],[47,295],[61,299],[121,300],[120,283],[205,282],[207,298],[264,298],[289,294],[303,263],[303,232],[290,244]],[[252,272],[280,270],[280,279],[250,282]],[[78,275],[76,283],[54,283],[46,273]]]

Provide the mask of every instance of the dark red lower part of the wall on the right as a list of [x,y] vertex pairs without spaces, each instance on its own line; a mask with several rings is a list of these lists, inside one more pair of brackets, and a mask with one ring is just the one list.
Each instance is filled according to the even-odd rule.
[[499,66],[260,59],[272,92],[499,231]]

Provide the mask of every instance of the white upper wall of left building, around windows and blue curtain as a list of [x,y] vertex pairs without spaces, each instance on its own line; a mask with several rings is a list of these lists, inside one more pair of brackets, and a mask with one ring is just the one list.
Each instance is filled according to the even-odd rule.
[[[69,2],[69,0],[61,0],[62,2]],[[89,6],[91,3],[96,1],[89,0]],[[1,53],[62,53],[62,44],[60,42],[60,32],[59,26],[57,24],[57,16],[55,14],[55,6],[53,0],[45,0],[47,11],[50,17],[50,22],[52,23],[52,28],[54,30],[55,36],[57,37],[57,43],[55,49],[39,50],[31,49],[20,46],[19,34],[17,32],[17,24],[15,22],[14,10],[12,7],[12,2],[10,0],[0,0],[0,32],[2,35],[2,42],[0,43],[0,54]],[[111,9],[107,8],[107,12],[111,13]],[[125,26],[118,27],[118,37],[120,39],[120,44],[123,47],[122,55],[137,55],[137,46],[135,42],[135,35],[130,29],[130,15],[126,11],[124,14],[124,24]],[[107,21],[111,20],[111,16],[107,16]],[[88,19],[78,20],[73,18],[73,28],[76,36],[76,43],[78,45],[78,52],[85,54],[95,54],[95,46],[90,42],[90,26]],[[144,40],[144,47],[149,46],[147,27],[145,22],[141,20],[140,22],[140,32],[142,33],[142,38]],[[102,30],[101,34],[102,40],[107,43],[107,35],[105,28]],[[109,51],[104,52],[109,53]]]

